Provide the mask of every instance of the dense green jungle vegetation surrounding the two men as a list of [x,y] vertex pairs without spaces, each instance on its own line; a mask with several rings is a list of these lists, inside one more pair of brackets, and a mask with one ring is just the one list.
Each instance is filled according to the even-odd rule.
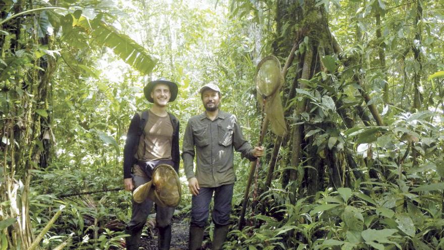
[[[126,132],[159,77],[181,140],[215,81],[266,148],[235,155],[225,249],[444,249],[443,0],[3,0],[0,49],[0,249],[123,249]],[[288,133],[261,139],[269,55]]]

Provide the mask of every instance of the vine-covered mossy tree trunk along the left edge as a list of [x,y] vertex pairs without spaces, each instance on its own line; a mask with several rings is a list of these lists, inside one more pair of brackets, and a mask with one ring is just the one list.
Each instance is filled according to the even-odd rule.
[[[25,7],[24,1],[18,1],[11,10],[17,14],[26,11]],[[0,110],[5,117],[0,123],[3,127],[0,202],[9,206],[2,206],[0,220],[17,218],[3,232],[10,249],[27,249],[33,242],[28,195],[31,170],[48,166],[53,142],[50,81],[55,59],[49,55],[38,58],[18,53],[34,53],[43,46],[53,49],[52,36],[38,37],[38,29],[39,14],[19,16],[3,24],[2,30],[8,35],[0,38],[2,56],[9,66],[2,74],[1,94],[6,106]]]

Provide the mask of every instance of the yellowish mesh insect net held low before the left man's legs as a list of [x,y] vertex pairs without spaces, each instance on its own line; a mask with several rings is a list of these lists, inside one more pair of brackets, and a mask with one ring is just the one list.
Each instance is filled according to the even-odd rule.
[[160,164],[153,169],[152,179],[138,186],[133,192],[136,203],[150,198],[160,207],[176,207],[182,196],[179,176],[168,164]]

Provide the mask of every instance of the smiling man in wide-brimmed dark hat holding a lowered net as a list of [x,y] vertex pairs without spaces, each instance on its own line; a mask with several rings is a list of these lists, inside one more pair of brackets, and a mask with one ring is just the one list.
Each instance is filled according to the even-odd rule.
[[[131,221],[126,228],[126,233],[130,236],[126,238],[126,247],[128,250],[139,248],[142,229],[154,202],[158,248],[170,249],[171,219],[174,206],[180,199],[177,177],[180,153],[179,120],[168,113],[166,108],[169,102],[176,99],[178,86],[161,78],[149,82],[143,91],[145,98],[153,105],[149,110],[133,116],[124,148],[125,190],[133,191],[140,187],[133,194]],[[163,185],[162,180],[169,184]],[[165,192],[174,194],[165,195]],[[175,198],[171,202],[161,197]]]

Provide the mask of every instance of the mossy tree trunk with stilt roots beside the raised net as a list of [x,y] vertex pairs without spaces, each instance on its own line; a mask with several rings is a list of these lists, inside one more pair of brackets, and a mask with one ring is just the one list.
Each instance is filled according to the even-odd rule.
[[[335,86],[338,84],[339,64],[348,67],[358,59],[338,56],[341,49],[330,33],[326,17],[324,7],[316,6],[314,0],[303,3],[277,2],[274,54],[279,58],[285,58],[296,44],[297,60],[289,68],[286,77],[286,82],[294,84],[286,84],[284,91],[284,101],[288,100],[285,103],[293,104],[286,111],[286,117],[292,118],[287,120],[290,128],[289,136],[275,138],[271,143],[273,151],[264,188],[270,185],[274,176],[272,171],[281,145],[287,147],[286,152],[289,152],[288,155],[282,156],[282,160],[285,161],[282,164],[288,166],[282,173],[282,184],[300,195],[313,195],[327,186],[345,186],[351,179],[364,176],[358,169],[353,152],[344,146],[339,129],[351,128],[358,122],[370,125],[371,121],[365,114],[365,107],[356,105],[343,108],[343,102],[338,97],[341,89]],[[336,58],[336,69],[324,65],[326,58],[328,60]],[[359,74],[353,74],[352,79],[362,86]],[[330,107],[331,113],[326,114],[325,110],[317,108],[313,103],[314,97],[304,94],[301,91],[304,89],[313,95],[317,93],[320,96],[315,97],[320,97],[319,99],[324,97],[331,102],[334,106]],[[382,119],[376,107],[369,103],[370,97],[363,87],[359,89],[359,93],[364,103],[368,103],[368,110],[375,123],[382,125]],[[331,120],[329,118],[331,116],[339,117],[339,122]],[[360,117],[361,120],[356,121],[353,117]],[[313,136],[313,132],[310,132],[314,130],[319,131],[315,133],[317,136]]]

